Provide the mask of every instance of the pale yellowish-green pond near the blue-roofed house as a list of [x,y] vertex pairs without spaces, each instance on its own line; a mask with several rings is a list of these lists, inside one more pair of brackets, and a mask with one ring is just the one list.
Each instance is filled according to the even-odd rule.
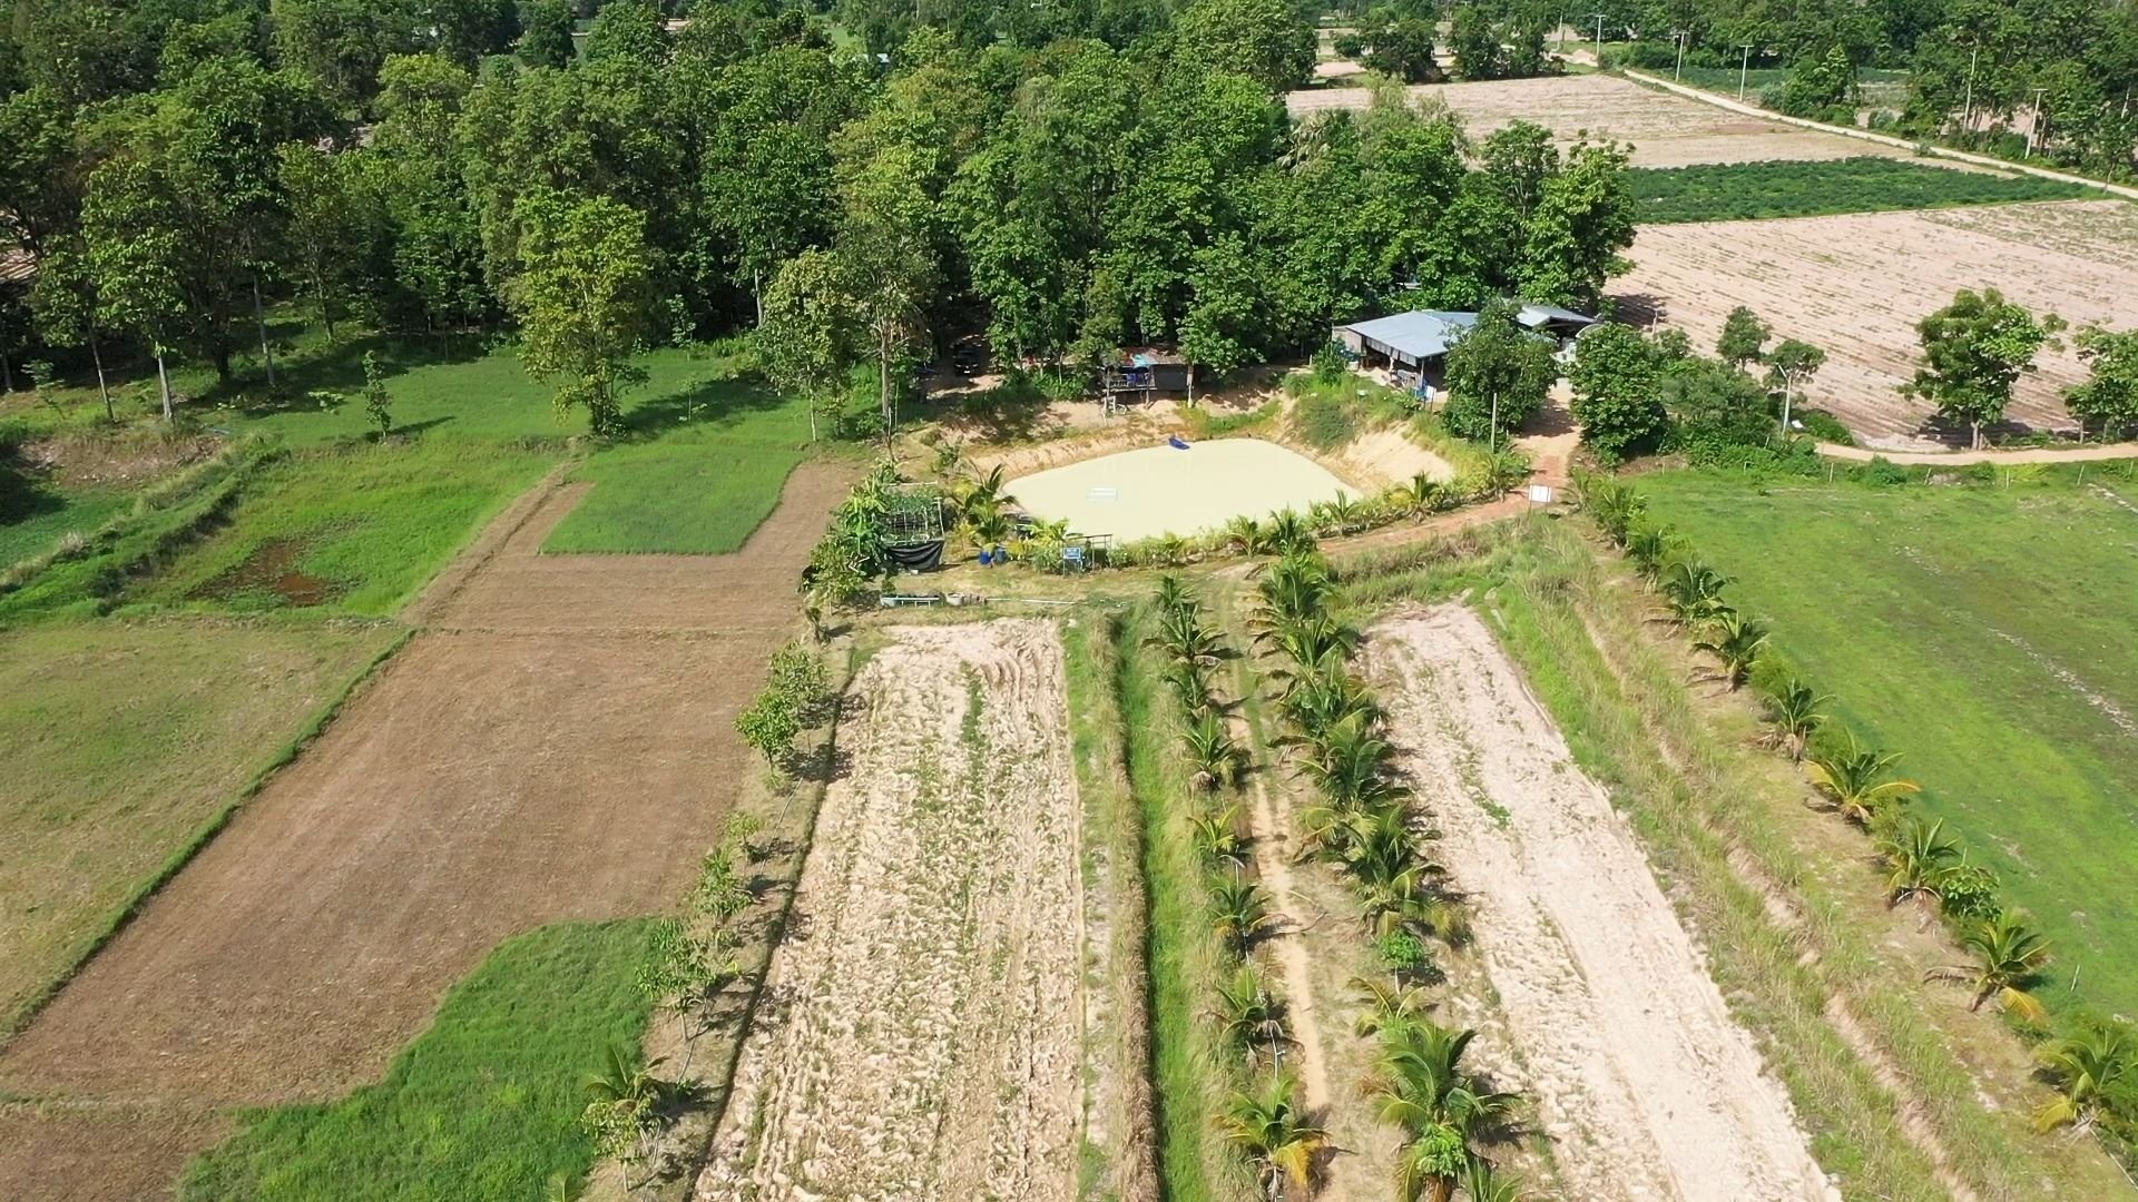
[[1217,438],[1187,451],[1161,443],[1009,481],[1009,494],[1039,518],[1067,518],[1080,535],[1116,541],[1195,535],[1287,507],[1304,513],[1338,492],[1364,496],[1306,456],[1261,438]]

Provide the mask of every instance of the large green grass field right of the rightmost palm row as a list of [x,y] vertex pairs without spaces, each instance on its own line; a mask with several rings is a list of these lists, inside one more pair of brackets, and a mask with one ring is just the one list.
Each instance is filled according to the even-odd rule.
[[2080,997],[2132,1014],[2138,511],[2097,488],[1640,481],[2033,913],[2057,956],[2048,992],[2078,975]]

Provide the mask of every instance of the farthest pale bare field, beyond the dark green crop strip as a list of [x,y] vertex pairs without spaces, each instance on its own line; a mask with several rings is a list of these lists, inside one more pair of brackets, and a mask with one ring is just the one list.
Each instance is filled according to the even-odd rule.
[[[1866,141],[1730,113],[1612,75],[1417,83],[1409,94],[1445,101],[1471,137],[1524,120],[1556,133],[1561,143],[1571,143],[1582,130],[1591,141],[1631,141],[1636,167],[1901,154]],[[1317,88],[1291,92],[1285,105],[1298,118],[1317,109],[1364,109],[1370,98],[1366,88]]]

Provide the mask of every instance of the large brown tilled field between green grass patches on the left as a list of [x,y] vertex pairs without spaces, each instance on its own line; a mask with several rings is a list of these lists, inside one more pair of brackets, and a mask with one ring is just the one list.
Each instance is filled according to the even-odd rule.
[[[539,556],[579,490],[522,498],[410,610],[423,633],[0,1054],[0,1093],[45,1101],[0,1114],[0,1196],[171,1181],[210,1138],[186,1114],[378,1078],[500,939],[673,905],[845,477],[797,468],[731,556]],[[9,1189],[43,1178],[34,1149],[141,1106],[175,1134]]]

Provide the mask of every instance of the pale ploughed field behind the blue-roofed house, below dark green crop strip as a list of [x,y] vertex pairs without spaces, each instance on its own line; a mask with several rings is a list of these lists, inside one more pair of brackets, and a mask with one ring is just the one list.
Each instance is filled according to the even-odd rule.
[[[2123,201],[1651,225],[1631,259],[1610,284],[1621,317],[1678,325],[1713,349],[1730,310],[1751,306],[1777,338],[1826,351],[1811,402],[1894,451],[1967,445],[1965,428],[1931,426],[1931,406],[1899,394],[1922,349],[1916,323],[1954,291],[1997,287],[2074,327],[2138,321],[2138,205]],[[2061,396],[2087,379],[2085,364],[2070,346],[2035,364],[2010,419],[2072,428]]]

